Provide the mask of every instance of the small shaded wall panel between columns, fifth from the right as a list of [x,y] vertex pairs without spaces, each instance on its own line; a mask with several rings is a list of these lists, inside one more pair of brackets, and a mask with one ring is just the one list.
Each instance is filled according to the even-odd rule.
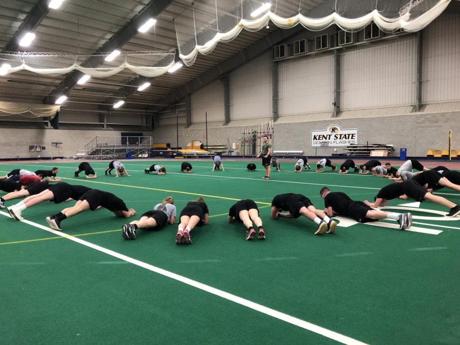
[[192,94],[192,123],[204,122],[206,112],[208,121],[224,121],[224,94],[220,80],[215,80]]

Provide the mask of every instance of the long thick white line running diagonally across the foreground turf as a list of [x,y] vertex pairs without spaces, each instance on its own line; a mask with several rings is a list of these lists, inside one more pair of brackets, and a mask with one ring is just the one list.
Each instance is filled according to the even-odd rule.
[[[0,214],[10,218],[9,214],[7,214],[5,212],[0,211]],[[228,293],[228,292],[213,288],[212,286],[199,283],[197,281],[194,281],[194,280],[186,278],[186,277],[182,277],[182,275],[179,275],[179,274],[164,270],[162,268],[147,264],[145,262],[133,259],[133,258],[128,257],[126,255],[120,254],[120,253],[118,253],[116,251],[113,251],[113,250],[98,246],[96,244],[87,242],[87,241],[82,240],[80,238],[67,235],[67,234],[65,234],[63,232],[55,231],[55,230],[53,230],[53,229],[51,229],[51,228],[49,228],[47,226],[43,226],[43,225],[31,222],[31,221],[26,220],[26,219],[21,220],[21,222],[29,224],[29,225],[32,225],[32,226],[35,226],[35,227],[38,227],[38,228],[40,228],[42,230],[45,230],[45,231],[48,231],[48,232],[50,232],[52,234],[62,236],[64,238],[68,239],[68,240],[71,240],[71,241],[77,242],[79,244],[82,244],[84,246],[87,246],[89,248],[93,248],[95,250],[101,251],[101,252],[103,252],[103,253],[105,253],[107,255],[110,255],[110,256],[112,256],[114,258],[129,262],[129,263],[131,263],[133,265],[145,268],[145,269],[147,269],[149,271],[164,275],[165,277],[174,279],[174,280],[176,280],[178,282],[193,286],[193,287],[195,287],[197,289],[200,289],[200,290],[209,292],[209,293],[211,293],[213,295],[225,298],[225,300],[237,303],[239,305],[242,305],[242,306],[247,307],[249,309],[252,309],[252,310],[258,311],[260,313],[266,314],[268,316],[272,316],[272,317],[277,318],[279,320],[285,321],[288,324],[303,328],[305,330],[317,333],[319,335],[323,335],[323,336],[325,336],[325,337],[327,337],[329,339],[336,340],[336,341],[341,342],[343,344],[365,345],[364,342],[361,342],[359,340],[356,340],[356,339],[347,337],[345,335],[342,335],[340,333],[328,330],[326,328],[311,324],[311,323],[309,323],[307,321],[304,321],[304,320],[302,320],[300,318],[290,316],[288,314],[285,314],[285,313],[279,312],[277,310],[265,307],[263,305],[260,305],[260,304],[245,300],[244,298],[241,298],[241,297],[238,297],[238,296],[236,296],[234,294],[231,294],[231,293]]]

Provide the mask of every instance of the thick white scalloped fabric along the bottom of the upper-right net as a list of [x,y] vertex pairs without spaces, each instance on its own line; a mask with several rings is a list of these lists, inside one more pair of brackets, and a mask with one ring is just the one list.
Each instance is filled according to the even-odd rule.
[[[179,57],[186,65],[191,66],[195,62],[198,53],[204,55],[210,54],[218,42],[229,42],[235,39],[242,29],[246,29],[248,31],[259,31],[267,26],[270,20],[274,25],[282,29],[289,29],[301,24],[308,30],[319,31],[326,29],[332,24],[336,24],[345,31],[358,31],[374,21],[376,25],[385,32],[392,32],[393,30],[398,29],[408,32],[416,32],[426,27],[432,20],[438,17],[446,9],[450,1],[451,0],[440,0],[425,13],[415,19],[410,19],[410,8],[408,9],[408,12],[396,18],[387,18],[380,14],[377,9],[374,9],[372,12],[358,18],[346,18],[336,12],[321,18],[309,18],[299,12],[292,17],[285,18],[268,11],[254,20],[241,19],[233,29],[225,33],[217,32],[216,35],[205,44],[196,44],[194,49],[188,54],[180,53],[180,37],[176,27],[177,40],[179,42]],[[192,29],[194,29],[194,32],[191,34],[195,35],[196,28],[192,27]]]

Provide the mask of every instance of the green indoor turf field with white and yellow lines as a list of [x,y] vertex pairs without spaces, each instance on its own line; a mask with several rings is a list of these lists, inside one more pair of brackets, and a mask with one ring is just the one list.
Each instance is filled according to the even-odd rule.
[[[457,342],[460,217],[443,217],[446,208],[392,200],[388,210],[413,213],[413,231],[398,231],[392,221],[337,218],[334,234],[314,236],[316,224],[306,218],[270,220],[272,198],[301,193],[323,209],[321,187],[372,200],[388,181],[329,168],[294,173],[287,162],[270,181],[262,179],[259,160],[256,172],[246,170],[249,161],[223,160],[225,172],[211,172],[210,160],[189,160],[192,174],[180,172],[179,160],[122,162],[130,177],[105,176],[108,163],[101,161],[90,162],[95,180],[73,177],[78,160],[0,170],[56,166],[65,182],[121,197],[137,211],[130,220],[166,196],[175,199],[177,214],[203,196],[210,225],[191,232],[192,245],[178,246],[177,224],[140,229],[128,241],[121,227],[130,220],[104,209],[63,221],[62,233],[52,231],[45,217],[73,201],[26,209],[22,222],[3,209],[2,343]],[[165,176],[144,174],[154,162],[167,168]],[[438,194],[460,203],[452,190]],[[246,198],[258,202],[265,241],[245,241],[242,223],[227,222],[229,207]]]

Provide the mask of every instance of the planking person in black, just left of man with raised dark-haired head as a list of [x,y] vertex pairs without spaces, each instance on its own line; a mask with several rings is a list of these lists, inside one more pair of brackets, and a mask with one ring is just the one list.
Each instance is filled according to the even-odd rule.
[[[282,213],[281,211],[289,211]],[[310,199],[302,194],[279,194],[271,202],[271,219],[278,217],[298,218],[307,217],[318,224],[315,235],[323,234],[326,229],[327,233],[333,233],[337,223],[329,218],[323,211],[316,210]]]

